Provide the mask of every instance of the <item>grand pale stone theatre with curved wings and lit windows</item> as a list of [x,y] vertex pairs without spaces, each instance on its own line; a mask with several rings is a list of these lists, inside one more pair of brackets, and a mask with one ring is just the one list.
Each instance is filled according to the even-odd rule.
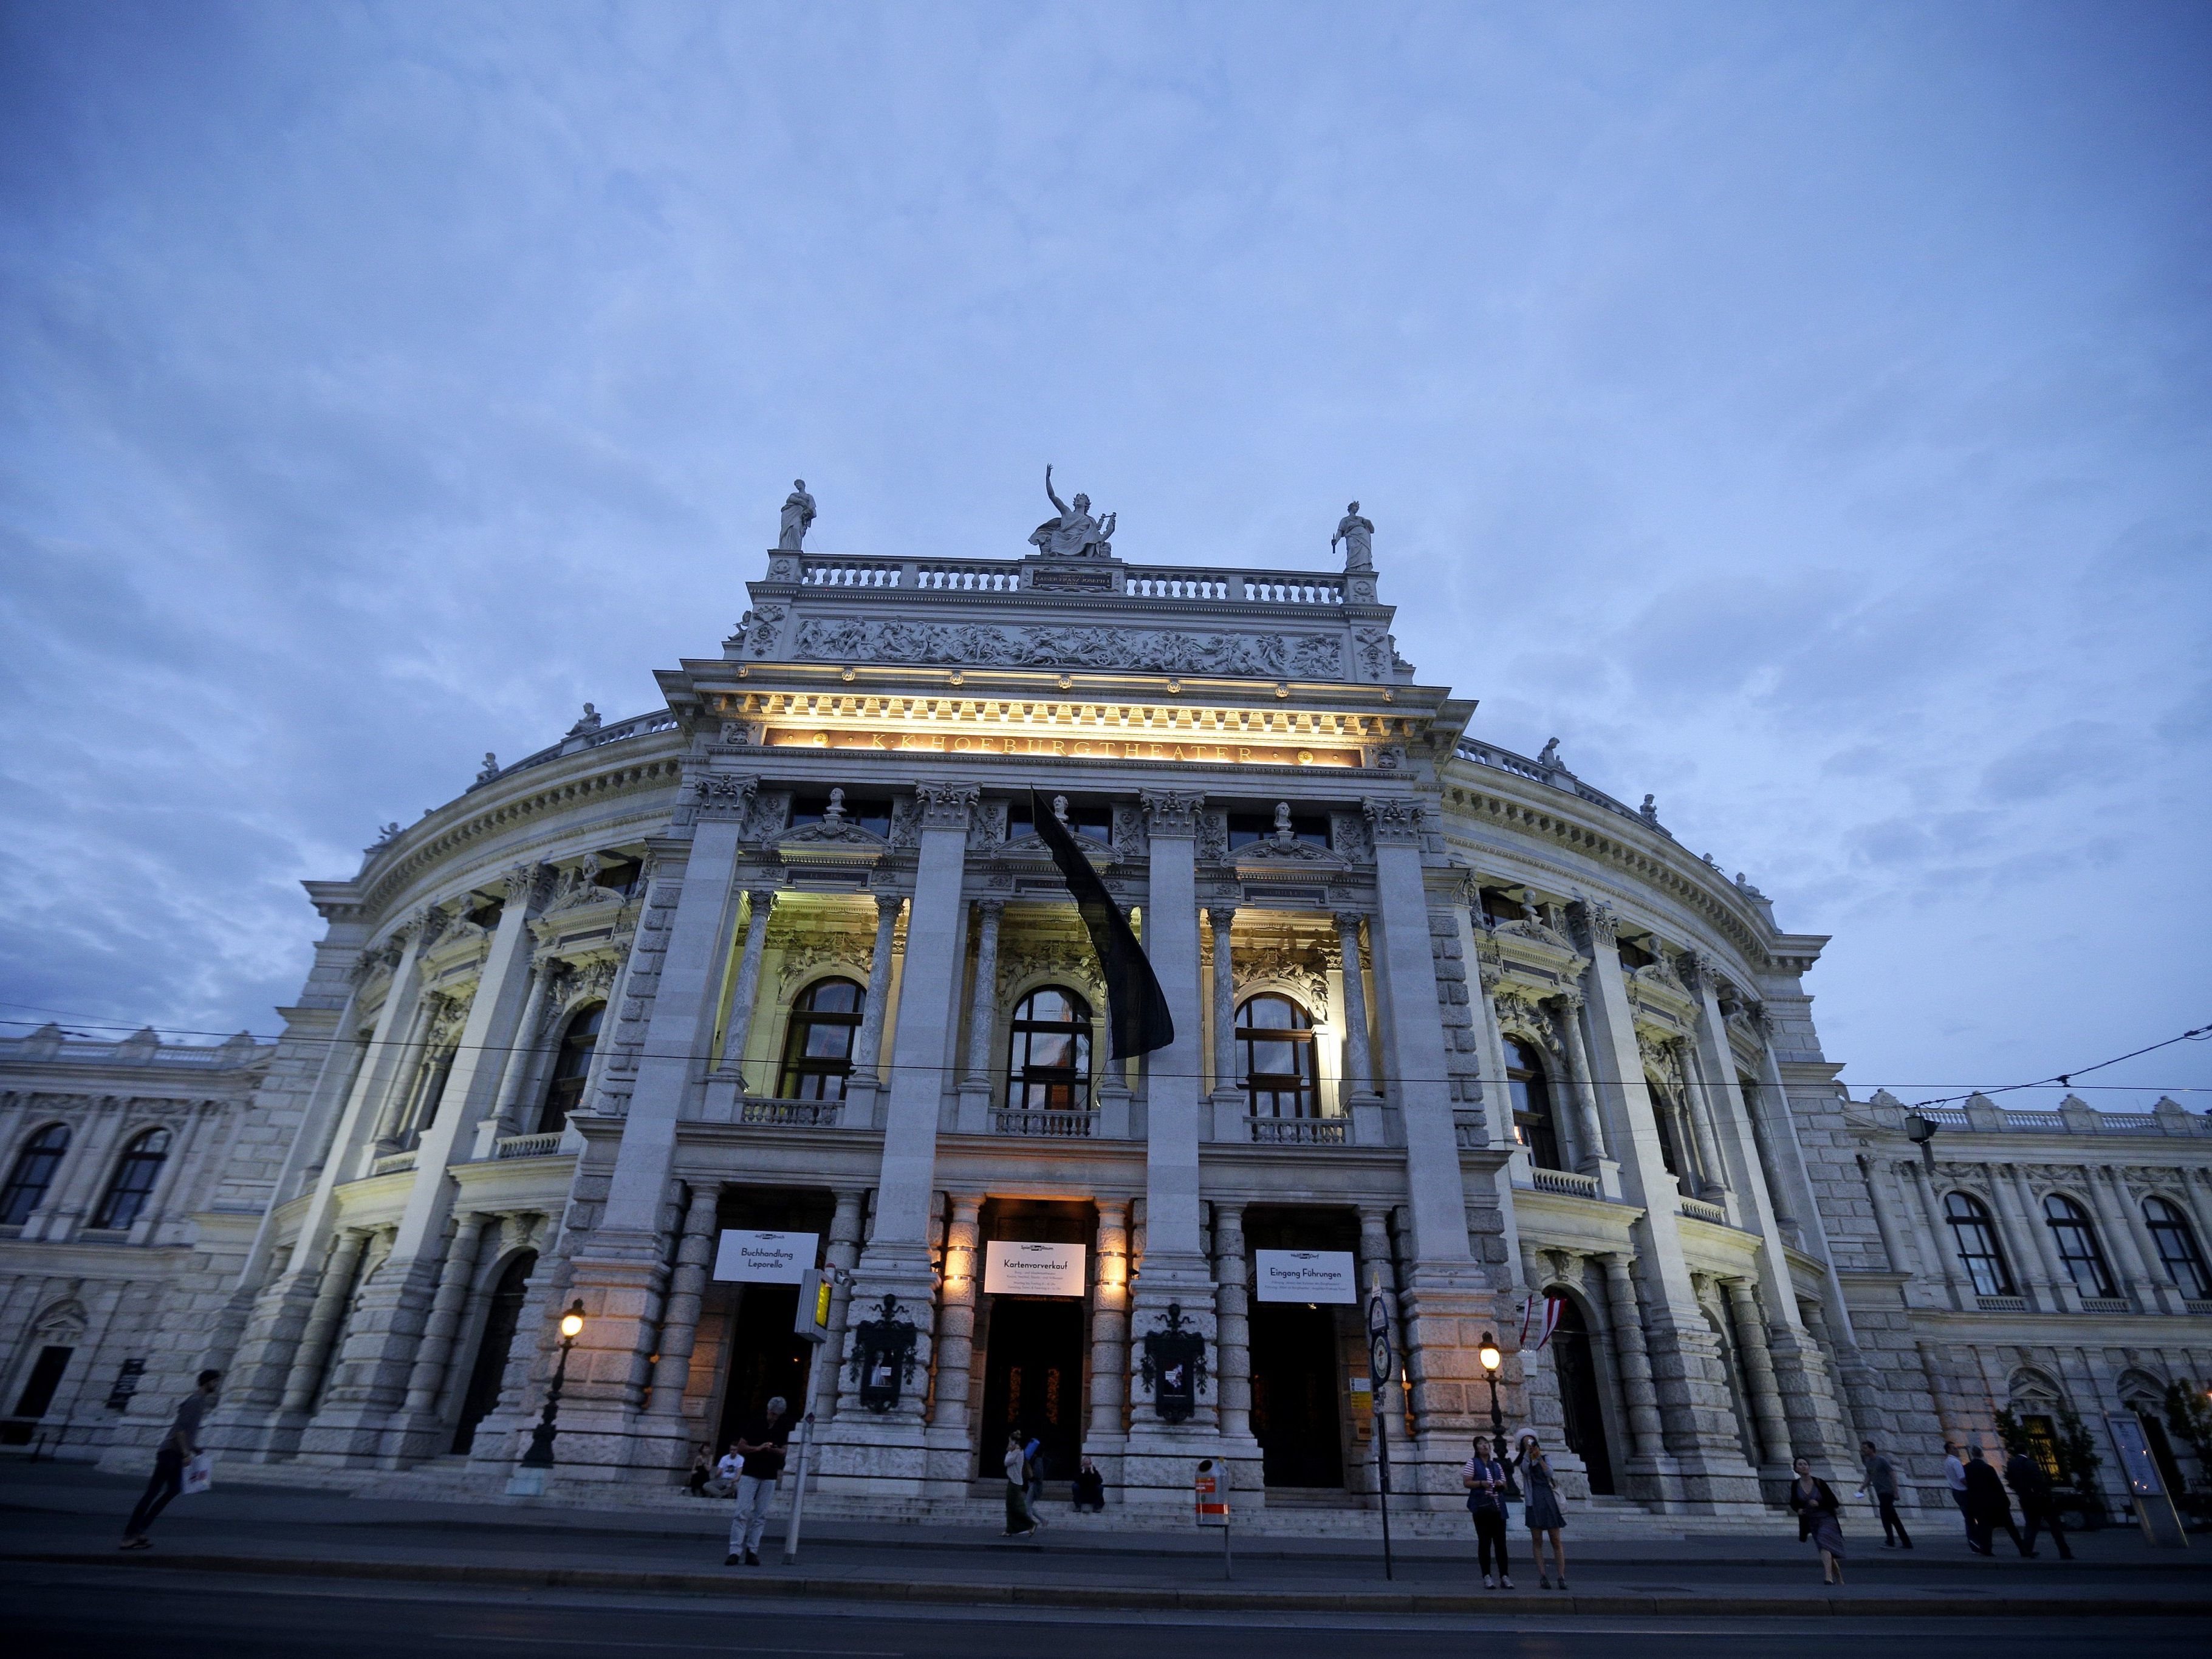
[[[1365,520],[1232,571],[1126,564],[1082,498],[1026,557],[810,518],[664,708],[310,883],[274,1044],[0,1042],[11,1444],[135,1467],[219,1365],[210,1438],[272,1478],[533,1491],[562,1371],[553,1480],[622,1500],[812,1376],[838,1513],[960,1513],[1015,1431],[1121,1513],[1208,1455],[1239,1509],[1358,1509],[1378,1422],[1442,1511],[1495,1338],[1571,1495],[1750,1517],[1794,1455],[1876,1438],[1942,1502],[2000,1407],[2212,1374],[2208,1119],[1978,1099],[1911,1144],[1820,1051],[1825,940],[1473,734]],[[1033,790],[1170,1046],[1108,1057]],[[812,1371],[757,1234],[838,1270]]]

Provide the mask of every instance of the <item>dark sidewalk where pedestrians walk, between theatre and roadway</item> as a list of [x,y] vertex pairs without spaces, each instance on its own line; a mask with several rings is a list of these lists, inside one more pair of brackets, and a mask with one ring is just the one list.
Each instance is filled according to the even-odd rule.
[[[785,1509],[770,1524],[768,1566],[721,1566],[728,1504],[688,1500],[679,1511],[584,1511],[557,1502],[465,1504],[378,1500],[296,1484],[239,1480],[179,1498],[155,1528],[155,1548],[117,1553],[119,1520],[139,1482],[77,1464],[0,1467],[0,1559],[128,1566],[254,1577],[387,1579],[511,1588],[593,1588],[779,1599],[942,1601],[1064,1608],[1279,1608],[1367,1613],[1517,1613],[1743,1617],[2051,1615],[2208,1617],[2212,1551],[2152,1551],[2139,1531],[2075,1535],[2077,1562],[1966,1553],[1951,1526],[1929,1526],[1920,1548],[1885,1551],[1854,1535],[1851,1582],[1820,1586],[1809,1546],[1790,1522],[1772,1537],[1575,1537],[1568,1515],[1566,1595],[1535,1588],[1526,1535],[1515,1533],[1513,1593],[1484,1590],[1473,1540],[1402,1540],[1396,1579],[1383,1575],[1380,1524],[1371,1540],[1230,1535],[1234,1579],[1223,1582],[1217,1533],[1106,1531],[1048,1513],[1037,1542],[984,1526],[807,1524],[796,1566],[781,1564]],[[1931,1517],[1933,1520],[1933,1517]],[[2000,1546],[2006,1548],[2008,1546]]]

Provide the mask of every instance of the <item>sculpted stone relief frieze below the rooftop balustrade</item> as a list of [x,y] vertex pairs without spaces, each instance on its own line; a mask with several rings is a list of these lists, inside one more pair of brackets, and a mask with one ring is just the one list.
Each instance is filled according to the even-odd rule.
[[1181,633],[1172,628],[1002,628],[984,622],[799,624],[801,661],[960,664],[975,668],[1146,668],[1181,675],[1343,679],[1345,648],[1329,635]]

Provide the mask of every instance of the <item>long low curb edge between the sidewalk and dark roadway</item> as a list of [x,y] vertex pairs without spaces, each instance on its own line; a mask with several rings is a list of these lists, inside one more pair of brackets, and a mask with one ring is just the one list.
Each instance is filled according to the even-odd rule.
[[307,1579],[398,1579],[425,1584],[498,1584],[531,1590],[677,1590],[686,1595],[741,1595],[774,1599],[860,1599],[860,1601],[938,1601],[947,1606],[1033,1606],[1033,1608],[1146,1608],[1192,1613],[1498,1613],[1542,1610],[1584,1617],[2073,1617],[2073,1619],[2201,1619],[2212,1615],[2212,1599],[2150,1597],[2015,1597],[1991,1604],[1971,1597],[1869,1597],[1838,1599],[1829,1595],[1785,1601],[1781,1597],[1732,1595],[1564,1595],[1500,1601],[1491,1595],[1449,1590],[1203,1590],[1203,1588],[1137,1588],[1137,1586],[1051,1586],[1051,1584],[929,1584],[916,1579],[810,1579],[752,1577],[717,1573],[622,1573],[593,1566],[487,1566],[469,1562],[345,1562],[257,1555],[139,1555],[117,1557],[84,1553],[11,1553],[0,1562],[35,1566],[122,1566],[164,1568],[173,1573],[241,1573],[261,1577]]

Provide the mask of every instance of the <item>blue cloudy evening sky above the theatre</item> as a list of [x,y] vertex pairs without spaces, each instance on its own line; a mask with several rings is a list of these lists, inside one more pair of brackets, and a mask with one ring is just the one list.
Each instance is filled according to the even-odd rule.
[[1053,460],[1139,562],[1358,495],[1480,734],[1836,936],[1860,1091],[2212,1020],[2208,84],[2121,0],[9,0],[0,1013],[272,1031],[299,878],[655,706],[794,473],[1013,555]]

